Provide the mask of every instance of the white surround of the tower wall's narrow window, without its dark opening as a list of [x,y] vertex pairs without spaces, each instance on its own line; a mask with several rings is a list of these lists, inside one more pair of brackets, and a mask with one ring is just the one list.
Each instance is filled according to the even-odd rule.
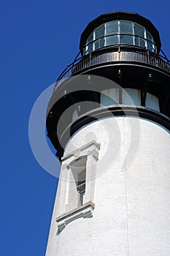
[[[80,217],[93,217],[94,194],[96,184],[96,162],[98,161],[98,154],[100,144],[95,140],[77,148],[77,150],[66,154],[62,160],[60,189],[65,193],[65,201],[62,202],[61,197],[58,196],[58,204],[61,206],[59,214],[57,214],[56,222],[58,224],[58,231],[61,232],[69,222]],[[73,168],[77,162],[85,159],[86,162],[86,180],[85,180],[85,195],[83,196],[83,204],[80,206],[77,203],[77,185],[73,175]],[[68,178],[69,181],[68,181]],[[73,197],[72,197],[73,195]],[[74,202],[72,200],[74,199]]]

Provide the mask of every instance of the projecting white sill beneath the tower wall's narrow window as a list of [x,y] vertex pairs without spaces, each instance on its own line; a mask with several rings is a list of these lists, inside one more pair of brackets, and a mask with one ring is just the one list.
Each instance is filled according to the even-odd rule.
[[94,206],[94,203],[88,202],[56,218],[56,222],[58,223],[58,231],[61,232],[66,225],[69,224],[69,222],[72,222],[74,219],[78,219],[80,217],[93,217]]

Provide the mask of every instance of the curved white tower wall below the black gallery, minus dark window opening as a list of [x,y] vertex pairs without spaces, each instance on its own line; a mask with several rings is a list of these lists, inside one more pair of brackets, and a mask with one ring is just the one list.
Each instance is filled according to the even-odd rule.
[[[46,255],[169,256],[169,154],[169,130],[146,118],[79,129],[64,151]],[[83,206],[75,197],[80,160]]]

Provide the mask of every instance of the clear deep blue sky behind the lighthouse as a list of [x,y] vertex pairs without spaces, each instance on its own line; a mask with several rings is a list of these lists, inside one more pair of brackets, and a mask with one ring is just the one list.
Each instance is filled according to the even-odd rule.
[[169,0],[1,1],[1,255],[45,255],[57,179],[31,152],[28,119],[74,59],[85,26],[103,12],[138,12],[160,31],[170,59],[169,9]]

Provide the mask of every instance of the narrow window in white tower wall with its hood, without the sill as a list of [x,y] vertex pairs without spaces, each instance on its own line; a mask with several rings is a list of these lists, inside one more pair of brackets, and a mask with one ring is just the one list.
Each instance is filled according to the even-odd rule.
[[[66,167],[64,175],[68,181],[66,211],[72,211],[89,201],[93,202],[99,148],[98,143],[92,141],[63,157]],[[63,173],[62,169],[61,171]]]

